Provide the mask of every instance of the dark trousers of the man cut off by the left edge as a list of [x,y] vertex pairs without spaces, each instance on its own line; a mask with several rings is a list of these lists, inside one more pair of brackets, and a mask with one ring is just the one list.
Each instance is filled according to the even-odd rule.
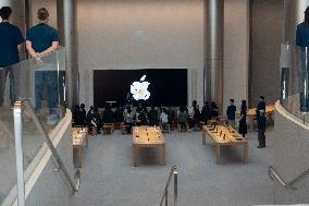
[[9,74],[10,78],[10,99],[11,104],[14,104],[15,101],[15,86],[14,86],[14,73],[13,69],[8,66],[0,70],[0,106],[3,106],[4,102],[4,90],[5,90],[5,84],[7,84],[7,77]]

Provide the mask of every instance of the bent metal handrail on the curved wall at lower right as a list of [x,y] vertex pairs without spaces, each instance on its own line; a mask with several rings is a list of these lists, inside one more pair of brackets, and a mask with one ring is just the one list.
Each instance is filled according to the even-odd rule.
[[[273,174],[273,175],[272,175]],[[269,178],[272,181],[275,181],[274,178],[280,182],[281,185],[283,185],[285,189],[292,189],[292,190],[297,190],[296,186],[294,186],[294,184],[298,181],[300,181],[304,177],[306,177],[307,174],[309,174],[309,169],[307,169],[306,171],[304,171],[302,173],[300,173],[298,177],[296,177],[294,180],[292,180],[291,182],[286,182],[280,174],[279,172],[272,167],[269,166]]]

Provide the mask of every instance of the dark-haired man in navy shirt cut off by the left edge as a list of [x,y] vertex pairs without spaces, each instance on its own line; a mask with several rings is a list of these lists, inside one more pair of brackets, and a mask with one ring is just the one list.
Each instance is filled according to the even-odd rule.
[[[12,9],[3,7],[0,9],[0,107],[3,106],[7,77],[10,77],[10,99],[15,100],[14,72],[16,69],[10,66],[20,61],[18,50],[22,48],[24,38],[18,27],[10,24]],[[5,69],[4,69],[5,68]]]

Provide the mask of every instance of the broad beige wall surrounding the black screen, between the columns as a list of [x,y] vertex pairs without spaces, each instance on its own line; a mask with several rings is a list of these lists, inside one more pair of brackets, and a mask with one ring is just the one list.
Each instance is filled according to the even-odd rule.
[[77,21],[81,101],[92,70],[168,68],[189,69],[188,102],[202,104],[202,0],[78,0]]

